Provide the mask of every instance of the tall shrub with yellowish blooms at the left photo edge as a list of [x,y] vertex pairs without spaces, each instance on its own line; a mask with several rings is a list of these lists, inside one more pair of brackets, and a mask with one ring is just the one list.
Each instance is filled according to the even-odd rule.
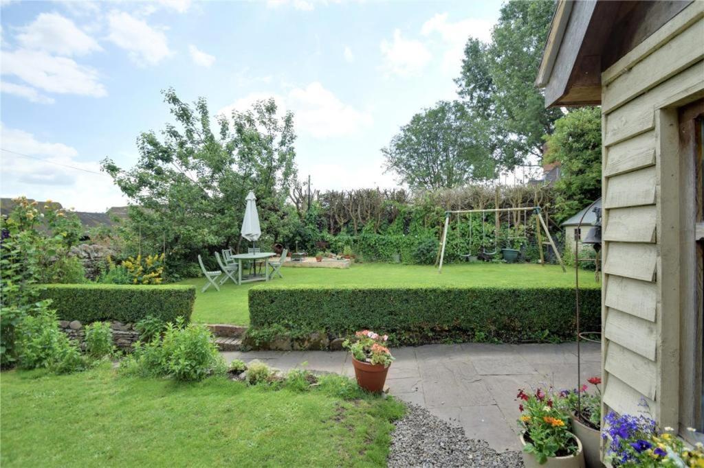
[[0,366],[15,363],[15,327],[37,308],[38,282],[82,281],[82,266],[68,257],[80,237],[75,214],[47,200],[19,197],[2,216],[0,231]]

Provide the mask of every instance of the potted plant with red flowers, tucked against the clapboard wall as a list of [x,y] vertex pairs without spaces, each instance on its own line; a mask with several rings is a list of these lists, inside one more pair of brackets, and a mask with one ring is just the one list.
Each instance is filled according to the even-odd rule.
[[564,408],[572,415],[572,431],[584,446],[584,461],[587,468],[601,467],[601,449],[599,429],[601,427],[601,391],[599,384],[601,378],[590,377],[587,379],[594,387],[588,392],[589,387],[582,385],[581,389],[562,390],[557,400],[560,408]]

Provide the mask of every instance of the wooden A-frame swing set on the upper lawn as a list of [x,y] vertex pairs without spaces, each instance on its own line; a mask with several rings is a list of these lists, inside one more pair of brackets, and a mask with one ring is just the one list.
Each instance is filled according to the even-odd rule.
[[[471,250],[471,238],[472,238],[472,214],[474,213],[481,213],[482,214],[482,247],[481,247],[481,252],[477,252],[477,256],[479,254],[482,254],[482,256],[491,258],[494,255],[498,254],[498,222],[494,226],[494,252],[486,252],[486,249],[484,247],[484,240],[486,237],[486,230],[484,228],[484,224],[486,223],[486,213],[495,213],[496,218],[498,220],[498,216],[500,213],[503,212],[513,212],[519,214],[518,219],[520,219],[520,213],[522,212],[524,215],[524,220],[527,220],[528,212],[533,212],[533,214],[536,216],[536,235],[538,236],[538,247],[540,250],[540,263],[542,265],[545,265],[545,259],[543,259],[543,241],[541,239],[541,228],[545,232],[546,237],[548,238],[548,245],[553,247],[553,252],[555,252],[555,256],[557,257],[558,261],[560,262],[560,266],[562,267],[562,272],[567,273],[567,269],[565,268],[565,264],[562,262],[562,257],[560,256],[560,252],[558,252],[558,248],[555,247],[555,242],[553,241],[553,236],[550,235],[550,230],[548,230],[548,226],[546,225],[545,221],[543,220],[543,216],[541,215],[541,209],[540,207],[517,207],[517,208],[492,208],[492,209],[458,209],[458,210],[451,210],[445,212],[445,225],[443,228],[443,234],[442,234],[442,245],[440,249],[440,259],[439,259],[439,268],[438,268],[438,273],[442,273],[442,265],[443,261],[445,259],[445,248],[447,246],[447,233],[450,228],[450,216],[453,214],[469,214],[470,215],[470,250]],[[458,216],[458,221],[459,221],[459,216]],[[526,224],[524,223],[524,239],[526,239],[525,235],[525,228]],[[472,252],[469,252],[467,254],[460,255],[463,256],[467,259],[470,259],[473,255]]]

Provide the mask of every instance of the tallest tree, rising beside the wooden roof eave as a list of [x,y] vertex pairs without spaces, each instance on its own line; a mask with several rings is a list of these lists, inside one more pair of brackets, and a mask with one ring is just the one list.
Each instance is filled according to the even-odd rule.
[[465,105],[486,119],[491,149],[506,169],[541,156],[543,135],[562,116],[559,109],[545,108],[534,86],[553,9],[553,2],[542,0],[503,5],[491,43],[467,41],[455,80]]

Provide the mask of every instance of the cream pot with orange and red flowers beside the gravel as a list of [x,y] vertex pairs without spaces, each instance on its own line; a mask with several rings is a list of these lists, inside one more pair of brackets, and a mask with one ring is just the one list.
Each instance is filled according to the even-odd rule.
[[570,432],[570,415],[554,404],[555,398],[543,389],[534,394],[520,389],[517,398],[525,467],[584,468],[582,443]]

